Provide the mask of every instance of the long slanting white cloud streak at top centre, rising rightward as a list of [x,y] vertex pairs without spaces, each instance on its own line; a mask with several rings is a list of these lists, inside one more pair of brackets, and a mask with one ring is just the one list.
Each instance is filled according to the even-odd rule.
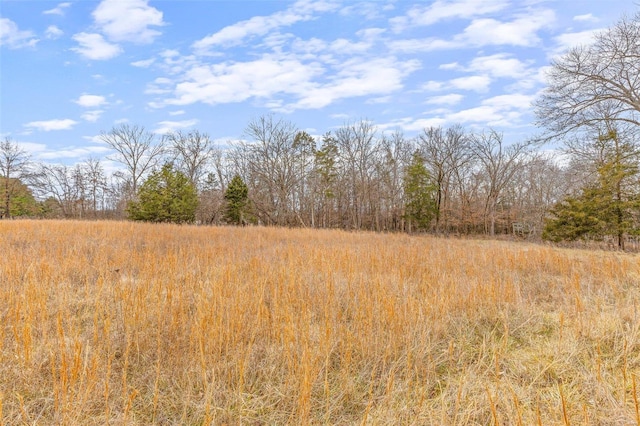
[[254,16],[246,21],[229,25],[193,43],[192,47],[201,54],[216,46],[229,47],[241,44],[246,38],[273,33],[276,29],[288,27],[298,22],[309,21],[315,13],[335,10],[338,6],[331,1],[299,0],[289,9],[268,16]]

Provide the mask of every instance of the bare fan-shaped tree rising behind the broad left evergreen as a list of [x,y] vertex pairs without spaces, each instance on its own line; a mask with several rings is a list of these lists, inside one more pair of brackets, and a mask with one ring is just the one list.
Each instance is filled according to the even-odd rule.
[[131,196],[135,197],[140,181],[159,163],[165,152],[162,141],[156,143],[153,133],[147,132],[144,127],[128,124],[102,133],[100,139],[116,151],[111,159],[125,167],[123,177],[130,183]]

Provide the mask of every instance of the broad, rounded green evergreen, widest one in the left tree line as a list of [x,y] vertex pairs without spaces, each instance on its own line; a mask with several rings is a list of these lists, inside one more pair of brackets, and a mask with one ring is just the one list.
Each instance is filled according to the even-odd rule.
[[184,173],[165,164],[140,186],[138,200],[127,207],[129,218],[147,222],[195,221],[198,192]]

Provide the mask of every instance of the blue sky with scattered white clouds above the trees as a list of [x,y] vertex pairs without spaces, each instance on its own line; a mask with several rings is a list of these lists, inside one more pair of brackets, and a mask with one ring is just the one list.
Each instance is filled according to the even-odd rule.
[[36,160],[104,158],[128,122],[226,143],[273,114],[320,135],[372,120],[536,132],[566,48],[632,0],[0,1],[0,136]]

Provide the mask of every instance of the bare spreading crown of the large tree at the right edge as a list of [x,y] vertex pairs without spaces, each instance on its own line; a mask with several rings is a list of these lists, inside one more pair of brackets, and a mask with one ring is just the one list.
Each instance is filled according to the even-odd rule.
[[624,17],[553,61],[539,123],[564,136],[603,120],[640,125],[640,14]]

